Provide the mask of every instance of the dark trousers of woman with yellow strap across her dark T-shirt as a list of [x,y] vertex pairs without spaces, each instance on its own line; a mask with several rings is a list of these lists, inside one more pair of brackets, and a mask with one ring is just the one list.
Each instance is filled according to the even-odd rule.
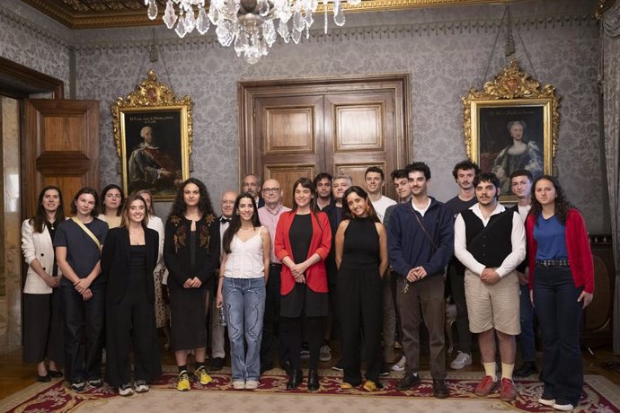
[[[84,301],[74,286],[60,286],[65,317],[65,377],[67,382],[98,379],[102,375],[105,285],[91,286],[93,297]],[[80,341],[86,330],[84,360]]]

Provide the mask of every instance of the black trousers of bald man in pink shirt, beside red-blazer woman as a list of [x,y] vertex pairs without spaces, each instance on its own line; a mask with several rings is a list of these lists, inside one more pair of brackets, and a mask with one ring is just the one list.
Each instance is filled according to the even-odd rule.
[[271,264],[269,279],[267,280],[267,297],[265,299],[265,313],[262,321],[261,366],[273,365],[273,355],[278,351],[280,367],[288,361],[288,346],[286,340],[286,326],[279,316],[279,274],[281,264]]

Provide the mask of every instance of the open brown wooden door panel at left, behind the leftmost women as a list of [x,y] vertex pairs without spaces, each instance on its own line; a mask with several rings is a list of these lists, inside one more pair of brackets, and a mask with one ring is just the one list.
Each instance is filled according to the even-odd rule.
[[66,215],[77,190],[99,189],[99,101],[25,101],[22,206],[34,215],[40,190],[62,190]]

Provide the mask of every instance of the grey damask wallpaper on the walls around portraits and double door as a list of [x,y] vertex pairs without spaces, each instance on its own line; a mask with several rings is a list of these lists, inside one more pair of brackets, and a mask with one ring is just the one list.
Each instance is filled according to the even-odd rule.
[[[553,84],[562,97],[556,172],[571,201],[583,210],[590,232],[600,233],[607,231],[608,211],[599,160],[595,3],[526,1],[512,4],[511,13],[519,65],[541,83]],[[275,45],[254,66],[210,37],[178,40],[163,25],[75,32],[77,98],[102,102],[102,185],[120,182],[110,105],[132,92],[149,68],[177,96],[194,100],[192,175],[207,183],[216,206],[221,193],[238,186],[238,81],[405,72],[412,79],[411,156],[429,163],[431,195],[447,200],[457,189],[452,166],[465,158],[461,98],[508,64],[503,31],[492,52],[503,13],[503,5],[350,13],[344,28],[332,27],[328,36],[311,33],[297,46]],[[0,36],[5,31],[0,28]],[[42,63],[59,55],[52,66],[64,67],[61,41],[42,50],[46,43],[37,35],[23,36],[22,41],[32,43],[29,66],[66,79],[66,69]],[[154,36],[159,60],[150,63],[147,45]],[[0,55],[7,56],[4,48]],[[24,60],[18,51],[11,56]]]

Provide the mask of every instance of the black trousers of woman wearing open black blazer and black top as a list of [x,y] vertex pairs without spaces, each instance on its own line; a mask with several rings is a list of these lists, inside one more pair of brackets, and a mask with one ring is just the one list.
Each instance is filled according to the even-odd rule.
[[105,381],[112,387],[131,382],[129,353],[132,347],[136,380],[154,382],[162,373],[157,345],[155,297],[148,300],[144,285],[153,280],[143,277],[142,283],[139,280],[136,283],[130,281],[119,303],[106,304]]

